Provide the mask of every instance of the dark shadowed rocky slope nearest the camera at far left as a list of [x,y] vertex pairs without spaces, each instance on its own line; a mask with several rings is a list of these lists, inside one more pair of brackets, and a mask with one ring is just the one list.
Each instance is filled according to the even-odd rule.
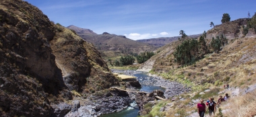
[[53,24],[27,2],[0,4],[0,115],[49,116],[53,98],[71,99],[49,45]]

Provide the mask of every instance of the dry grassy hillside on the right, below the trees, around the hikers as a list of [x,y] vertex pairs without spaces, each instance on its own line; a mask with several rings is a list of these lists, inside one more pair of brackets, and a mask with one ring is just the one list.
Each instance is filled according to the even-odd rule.
[[[148,115],[187,114],[189,116],[191,114],[190,116],[198,116],[195,110],[200,99],[207,100],[209,97],[214,97],[214,101],[217,102],[220,95],[228,93],[232,100],[224,102],[220,107],[225,116],[237,116],[238,114],[255,116],[253,105],[255,100],[252,99],[256,89],[256,38],[229,40],[220,53],[206,54],[205,58],[194,65],[183,68],[174,63],[173,52],[179,44],[181,41],[159,48],[160,52],[143,63],[139,70],[151,70],[150,73],[160,75],[170,81],[183,83],[191,87],[193,91],[157,103]],[[226,84],[229,84],[231,88],[224,89],[223,85]],[[251,101],[247,103],[244,100]],[[247,105],[246,108],[244,104]]]

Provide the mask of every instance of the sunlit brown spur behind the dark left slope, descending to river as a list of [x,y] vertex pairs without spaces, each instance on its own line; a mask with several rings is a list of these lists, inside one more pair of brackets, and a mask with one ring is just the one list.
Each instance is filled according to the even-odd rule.
[[84,91],[94,87],[97,91],[118,84],[92,44],[63,26],[55,25],[55,28],[58,32],[51,41],[51,48],[70,90]]

